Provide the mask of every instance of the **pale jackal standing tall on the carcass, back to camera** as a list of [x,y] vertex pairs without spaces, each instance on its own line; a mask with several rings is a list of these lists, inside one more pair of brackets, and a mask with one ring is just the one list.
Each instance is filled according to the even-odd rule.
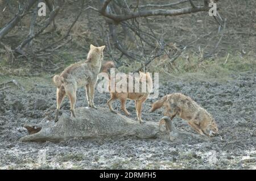
[[94,87],[97,82],[97,75],[101,69],[104,48],[105,45],[102,47],[94,47],[91,44],[86,61],[72,64],[60,75],[55,75],[53,77],[53,82],[57,87],[57,110],[55,122],[59,120],[60,104],[66,95],[70,100],[72,115],[75,117],[76,91],[79,87],[85,86],[88,104],[90,107],[94,108]]

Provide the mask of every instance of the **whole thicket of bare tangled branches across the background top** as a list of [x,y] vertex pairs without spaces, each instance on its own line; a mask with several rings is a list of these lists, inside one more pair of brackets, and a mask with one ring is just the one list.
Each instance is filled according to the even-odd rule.
[[[45,18],[38,17],[37,5],[39,2],[45,2],[47,5],[49,13]],[[165,55],[170,59],[170,63],[174,62],[189,45],[198,40],[195,39],[187,45],[170,44],[152,28],[152,23],[150,23],[152,17],[179,16],[201,11],[208,13],[210,9],[209,2],[209,0],[175,0],[169,3],[156,2],[152,4],[140,0],[101,0],[100,2],[89,0],[72,2],[68,0],[27,0],[18,2],[2,0],[0,1],[0,16],[4,11],[10,11],[13,18],[0,28],[0,48],[5,49],[12,63],[18,58],[23,58],[38,66],[40,66],[40,62],[47,62],[50,65],[48,67],[44,66],[44,69],[55,71],[59,69],[59,66],[51,62],[52,57],[72,41],[72,36],[70,36],[72,28],[81,15],[90,11],[90,13],[98,14],[99,19],[103,18],[108,26],[106,28],[105,24],[97,19],[90,25],[99,32],[102,42],[107,46],[106,52],[110,59],[115,61],[117,66],[120,66],[125,63],[120,61],[121,58],[126,56],[130,62],[141,63],[141,67],[134,70],[138,71],[139,69],[145,69],[151,61],[159,56]],[[68,28],[64,35],[58,37],[55,35],[57,29],[56,16],[67,6],[67,3],[77,3],[80,8],[74,11],[75,18],[73,18],[72,23],[67,24]],[[20,26],[19,23],[24,17],[30,19],[27,24],[29,30],[27,36],[22,37],[17,44],[9,43],[7,41],[8,37],[14,33],[15,27]],[[217,17],[213,16],[213,18],[216,20],[216,26],[220,26],[220,31],[224,30],[226,23],[220,14]],[[16,31],[22,31],[22,28],[18,28]],[[45,41],[38,43],[37,39],[44,36],[47,37],[47,43]],[[218,43],[221,39],[222,36]],[[218,43],[212,49],[212,52],[204,54],[202,58],[212,56],[214,50],[218,47]],[[114,54],[116,49],[119,51],[118,57]]]

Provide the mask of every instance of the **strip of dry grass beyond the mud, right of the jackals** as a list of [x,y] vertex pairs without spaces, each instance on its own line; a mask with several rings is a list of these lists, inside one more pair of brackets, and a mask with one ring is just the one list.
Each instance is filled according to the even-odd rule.
[[256,71],[256,61],[254,56],[241,56],[240,53],[230,54],[227,57],[216,57],[211,60],[200,62],[201,58],[192,55],[187,58],[179,57],[176,63],[171,65],[168,60],[152,62],[149,70],[159,72],[163,79],[216,79],[226,81],[232,74],[243,71]]

